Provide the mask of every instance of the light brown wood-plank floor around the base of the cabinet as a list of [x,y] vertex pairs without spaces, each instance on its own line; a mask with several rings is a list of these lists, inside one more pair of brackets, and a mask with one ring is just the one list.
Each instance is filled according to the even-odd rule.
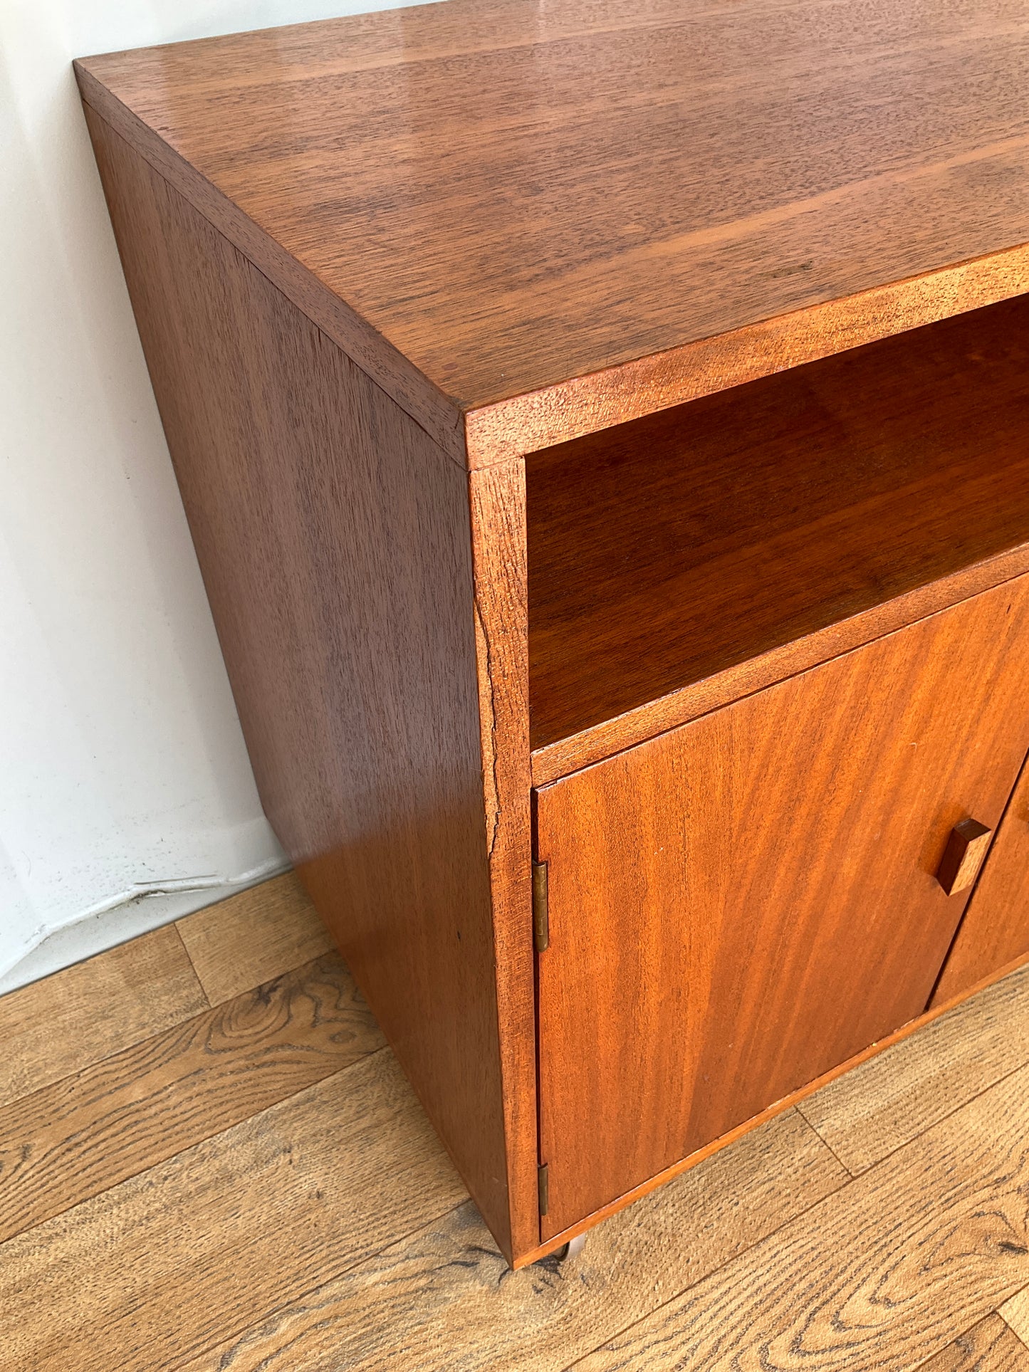
[[292,877],[0,1045],[4,1372],[1029,1372],[1029,970],[519,1273]]

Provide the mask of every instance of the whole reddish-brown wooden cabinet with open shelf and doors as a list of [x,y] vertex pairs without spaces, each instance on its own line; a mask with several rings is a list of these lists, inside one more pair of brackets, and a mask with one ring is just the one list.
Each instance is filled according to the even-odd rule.
[[1029,956],[1028,70],[1002,0],[77,63],[262,801],[514,1265]]

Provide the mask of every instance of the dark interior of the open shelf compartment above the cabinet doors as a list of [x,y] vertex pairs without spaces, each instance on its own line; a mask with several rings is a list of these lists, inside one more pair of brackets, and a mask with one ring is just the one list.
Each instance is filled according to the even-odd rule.
[[527,458],[545,748],[1029,541],[1029,298]]

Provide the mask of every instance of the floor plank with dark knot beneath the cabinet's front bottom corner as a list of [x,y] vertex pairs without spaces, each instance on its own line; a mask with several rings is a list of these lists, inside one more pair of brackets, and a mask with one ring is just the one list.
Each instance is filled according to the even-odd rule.
[[605,1221],[567,1264],[509,1272],[468,1202],[188,1372],[560,1372],[845,1183],[789,1111]]

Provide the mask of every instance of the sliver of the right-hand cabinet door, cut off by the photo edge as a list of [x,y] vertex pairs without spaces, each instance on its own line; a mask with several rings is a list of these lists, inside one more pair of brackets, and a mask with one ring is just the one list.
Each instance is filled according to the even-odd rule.
[[1029,954],[1029,767],[1015,786],[989,862],[965,911],[933,1002]]

